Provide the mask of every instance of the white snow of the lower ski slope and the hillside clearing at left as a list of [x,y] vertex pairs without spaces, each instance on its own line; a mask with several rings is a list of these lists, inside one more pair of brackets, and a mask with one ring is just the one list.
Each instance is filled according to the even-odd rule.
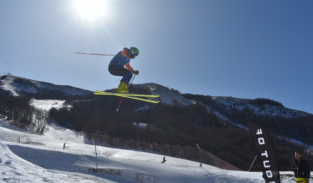
[[[32,101],[49,110],[63,101]],[[20,142],[20,143],[19,143]],[[166,156],[86,144],[79,132],[56,124],[39,135],[0,119],[0,179],[4,182],[261,183],[261,172],[223,170]],[[65,148],[64,148],[65,143]],[[255,165],[257,166],[257,165]],[[292,172],[281,172],[282,183]]]

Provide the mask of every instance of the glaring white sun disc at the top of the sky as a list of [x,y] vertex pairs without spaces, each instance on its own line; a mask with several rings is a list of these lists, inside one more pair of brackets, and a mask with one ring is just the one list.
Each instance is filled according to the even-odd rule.
[[92,20],[107,14],[106,2],[106,0],[74,0],[74,6],[80,16]]

